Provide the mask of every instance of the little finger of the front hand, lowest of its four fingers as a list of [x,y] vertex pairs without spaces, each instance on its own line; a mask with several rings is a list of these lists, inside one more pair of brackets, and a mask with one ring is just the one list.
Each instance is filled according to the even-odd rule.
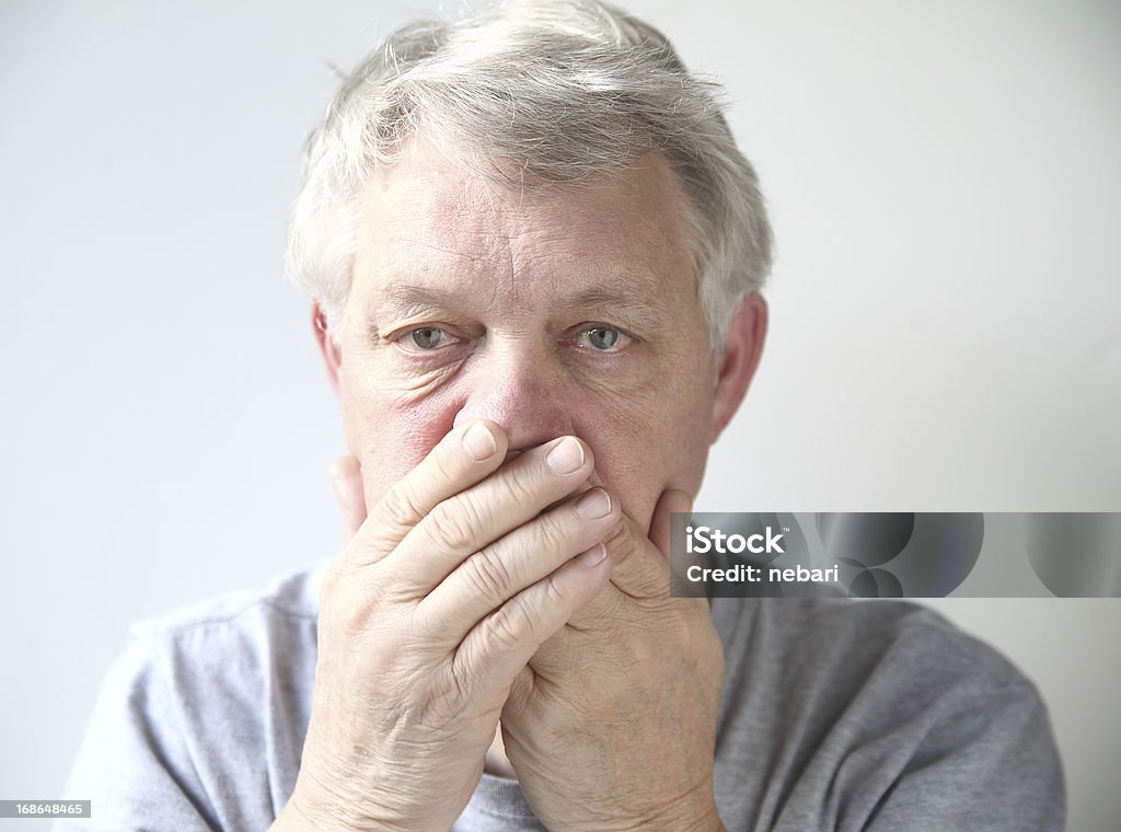
[[482,690],[509,690],[537,649],[595,598],[611,574],[611,558],[587,565],[574,557],[483,618],[463,639],[453,662],[458,678]]

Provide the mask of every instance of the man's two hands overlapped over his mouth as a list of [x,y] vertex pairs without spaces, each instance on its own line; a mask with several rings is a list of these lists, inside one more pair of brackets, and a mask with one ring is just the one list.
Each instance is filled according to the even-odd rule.
[[312,714],[274,829],[447,830],[501,723],[550,830],[719,830],[723,653],[703,599],[669,598],[670,511],[647,533],[559,437],[509,461],[475,420],[369,511],[333,480],[344,546],[322,591]]

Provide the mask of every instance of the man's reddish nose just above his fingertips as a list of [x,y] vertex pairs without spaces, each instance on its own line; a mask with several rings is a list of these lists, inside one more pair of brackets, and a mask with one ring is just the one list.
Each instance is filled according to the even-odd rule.
[[575,433],[571,417],[575,403],[563,372],[547,358],[510,350],[487,357],[474,369],[455,425],[472,418],[497,422],[507,432],[510,451]]

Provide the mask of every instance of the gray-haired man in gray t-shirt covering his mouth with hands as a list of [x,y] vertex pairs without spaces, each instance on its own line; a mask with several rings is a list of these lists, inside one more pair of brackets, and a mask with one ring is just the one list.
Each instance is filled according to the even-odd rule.
[[674,599],[756,370],[770,231],[711,87],[594,2],[392,34],[289,269],[344,545],[137,630],[73,829],[1060,829],[1031,685],[929,612]]

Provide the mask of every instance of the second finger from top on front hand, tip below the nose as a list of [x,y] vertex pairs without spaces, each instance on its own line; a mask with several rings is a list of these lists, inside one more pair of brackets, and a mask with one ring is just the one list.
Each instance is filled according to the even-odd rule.
[[[562,436],[526,451],[493,475],[444,500],[387,557],[396,588],[405,595],[426,597],[469,557],[566,498],[593,464],[592,450],[584,442]],[[485,584],[490,579],[481,580]],[[508,588],[501,597],[488,595],[488,610],[528,585],[508,579],[501,583]]]

